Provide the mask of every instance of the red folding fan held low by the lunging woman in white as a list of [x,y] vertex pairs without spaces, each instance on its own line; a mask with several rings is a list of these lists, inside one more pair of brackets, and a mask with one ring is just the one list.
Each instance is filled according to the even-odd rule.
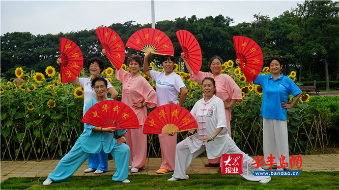
[[144,134],[174,133],[194,130],[197,124],[191,113],[179,105],[166,104],[155,108],[144,123]]

